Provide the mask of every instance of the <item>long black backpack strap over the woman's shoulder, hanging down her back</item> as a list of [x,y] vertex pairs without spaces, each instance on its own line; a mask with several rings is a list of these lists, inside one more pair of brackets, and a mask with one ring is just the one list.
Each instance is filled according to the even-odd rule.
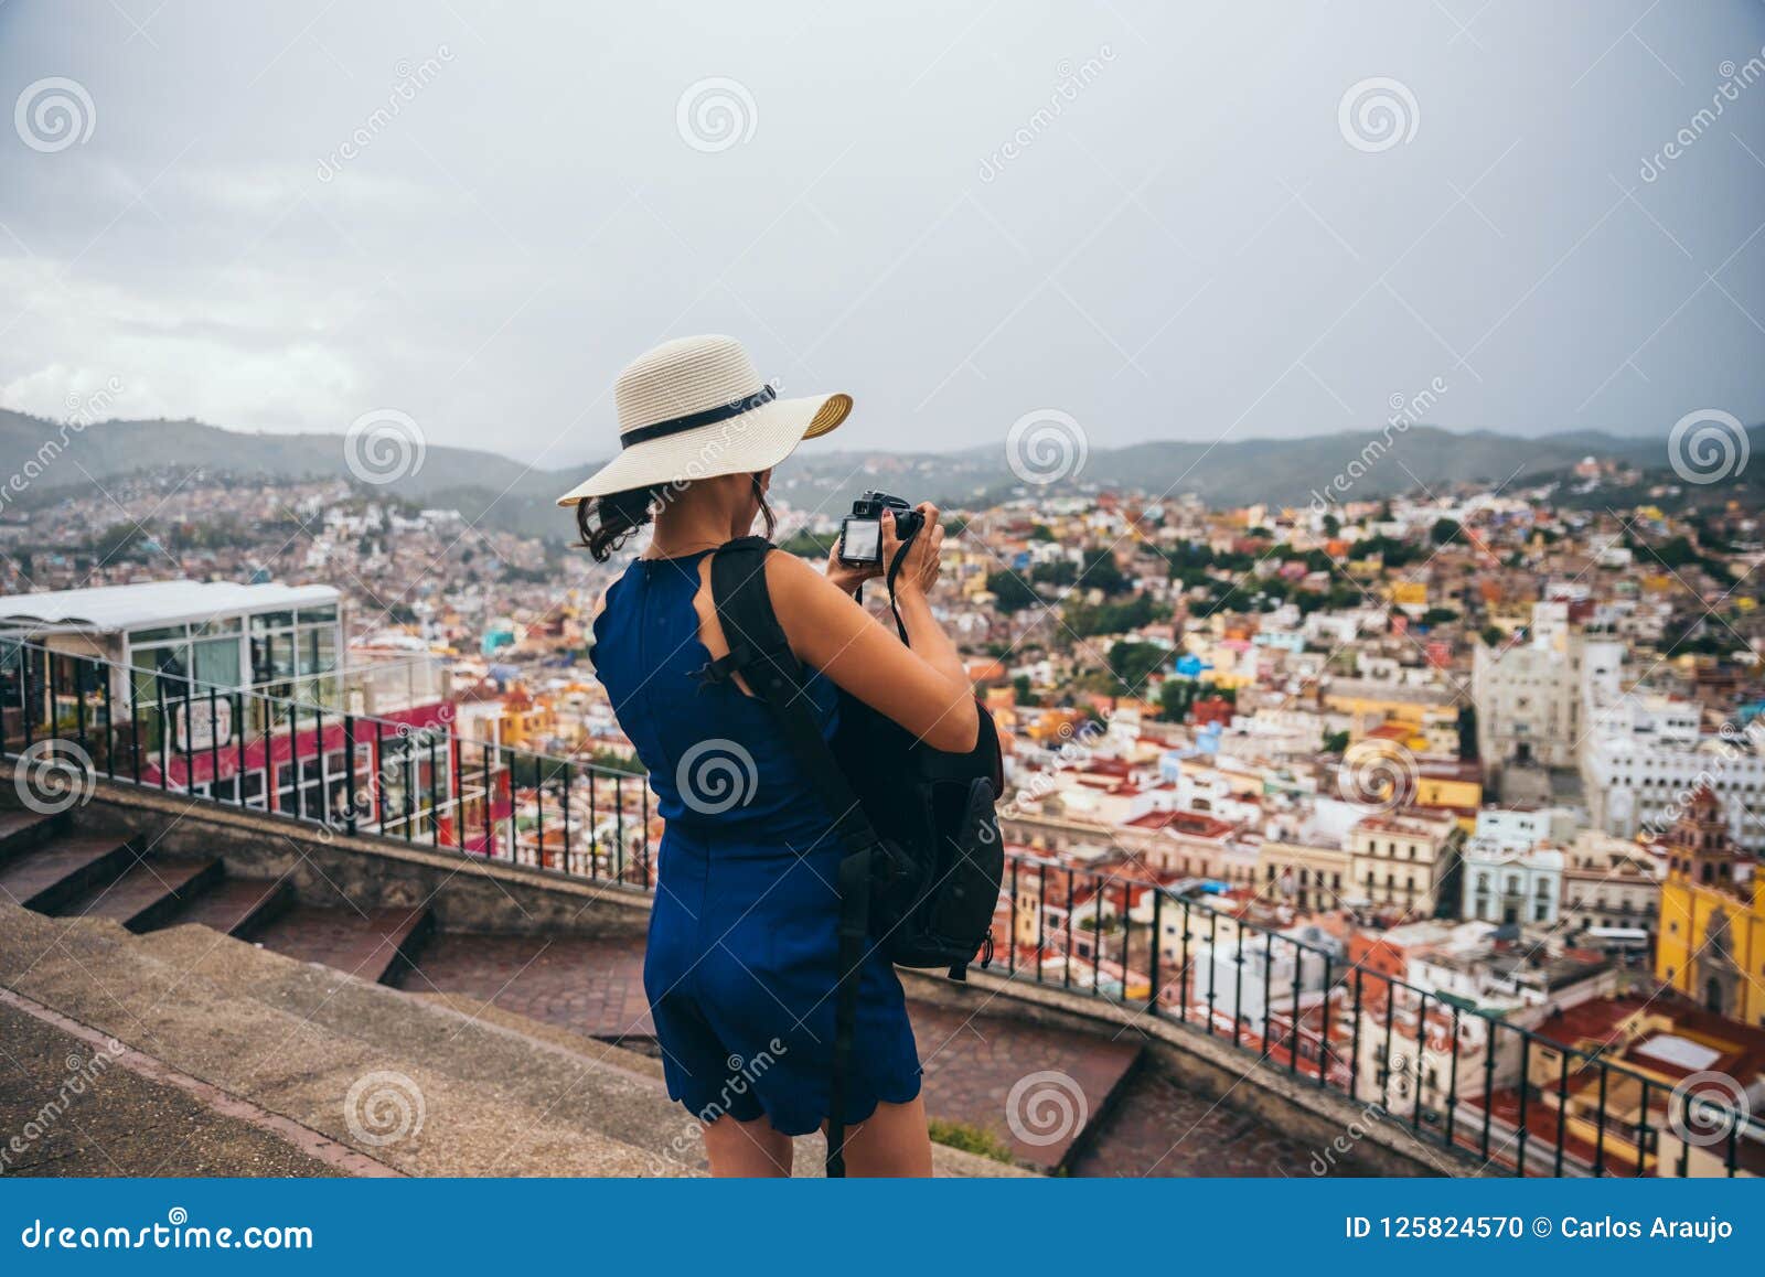
[[877,834],[840,771],[821,732],[814,700],[803,690],[803,667],[791,651],[784,626],[766,591],[766,554],[761,536],[729,541],[711,556],[711,603],[724,626],[729,656],[711,661],[706,677],[741,674],[766,702],[785,744],[833,817],[833,831],[847,847],[840,859],[840,977],[833,1011],[833,1076],[828,1101],[828,1178],[845,1175],[845,1088],[858,1035],[860,970],[870,940],[870,882],[875,873]]

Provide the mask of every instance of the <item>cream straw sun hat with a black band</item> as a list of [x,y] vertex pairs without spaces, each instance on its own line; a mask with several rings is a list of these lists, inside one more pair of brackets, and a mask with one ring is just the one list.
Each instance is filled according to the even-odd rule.
[[828,434],[851,395],[778,399],[734,337],[681,337],[639,355],[612,383],[620,455],[558,497],[771,469],[803,439]]

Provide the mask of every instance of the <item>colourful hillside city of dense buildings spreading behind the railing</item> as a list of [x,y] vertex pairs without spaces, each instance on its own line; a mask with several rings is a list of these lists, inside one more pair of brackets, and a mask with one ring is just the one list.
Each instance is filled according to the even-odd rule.
[[[1055,478],[941,515],[932,603],[1006,757],[988,970],[1486,1168],[1765,1169],[1756,508],[1594,457],[1287,508]],[[9,739],[48,690],[97,774],[653,887],[591,676],[639,545],[600,566],[349,480],[148,471],[104,504],[5,519]],[[778,515],[822,563],[837,517]],[[946,1139],[1034,1146],[971,1118]]]

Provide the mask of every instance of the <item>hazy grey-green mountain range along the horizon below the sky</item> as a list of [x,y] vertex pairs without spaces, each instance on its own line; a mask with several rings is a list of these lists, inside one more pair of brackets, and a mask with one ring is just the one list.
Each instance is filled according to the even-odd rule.
[[[1751,452],[1765,455],[1765,425],[1749,427],[1747,443]],[[1456,482],[1518,485],[1564,476],[1585,457],[1629,464],[1652,482],[1675,482],[1666,437],[1596,430],[1520,437],[1412,425],[1292,439],[1167,439],[1091,448],[1075,474],[1047,489],[1027,487],[1013,474],[1003,444],[913,453],[808,446],[778,471],[773,485],[775,494],[798,510],[835,513],[865,487],[941,503],[997,499],[1013,489],[1063,492],[1082,485],[1172,496],[1195,492],[1216,506],[1304,504],[1313,492],[1368,499]],[[341,434],[249,434],[168,420],[69,427],[0,409],[0,497],[9,508],[60,499],[69,489],[90,489],[141,471],[198,467],[240,478],[360,482],[351,473]],[[538,536],[574,534],[568,512],[558,510],[552,499],[588,471],[586,466],[537,469],[494,452],[439,444],[424,448],[415,469],[395,460],[390,467],[399,471],[399,478],[381,487],[390,496],[455,508],[469,520]],[[1761,473],[1765,459],[1710,485],[1710,492],[1728,494],[1739,485],[1756,497],[1765,487]]]

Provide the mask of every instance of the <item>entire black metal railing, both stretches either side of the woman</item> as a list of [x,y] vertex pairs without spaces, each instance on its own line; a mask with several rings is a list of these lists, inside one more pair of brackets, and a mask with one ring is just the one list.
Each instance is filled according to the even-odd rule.
[[[189,794],[305,825],[651,889],[644,776],[464,737],[452,706],[327,711],[16,644],[0,661],[0,753],[21,792],[64,776]],[[34,765],[25,765],[25,760]],[[1578,1046],[1548,1009],[1491,1014],[1239,919],[1207,896],[1011,855],[995,968],[1188,1027],[1513,1175],[1758,1175],[1765,1124],[1730,1094]],[[1528,1018],[1534,1023],[1518,1023]],[[1558,1023],[1560,1021],[1560,1023]],[[1553,1030],[1553,1025],[1557,1028]],[[1649,1030],[1636,1027],[1638,1034]]]

